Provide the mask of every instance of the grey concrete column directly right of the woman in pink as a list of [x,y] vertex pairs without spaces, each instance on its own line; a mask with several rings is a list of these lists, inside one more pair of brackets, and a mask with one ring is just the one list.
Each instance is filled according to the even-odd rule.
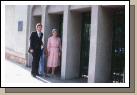
[[64,8],[61,78],[79,77],[81,15],[71,13],[69,6]]

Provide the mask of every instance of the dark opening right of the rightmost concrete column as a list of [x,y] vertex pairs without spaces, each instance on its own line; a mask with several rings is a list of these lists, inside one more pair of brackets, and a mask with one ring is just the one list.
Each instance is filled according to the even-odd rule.
[[125,82],[125,10],[118,9],[113,14],[112,70],[113,82]]

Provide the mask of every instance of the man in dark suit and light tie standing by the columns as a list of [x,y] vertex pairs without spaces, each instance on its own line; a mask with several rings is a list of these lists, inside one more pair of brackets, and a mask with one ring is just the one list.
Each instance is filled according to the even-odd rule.
[[30,36],[30,52],[33,56],[32,61],[32,70],[31,74],[33,77],[36,77],[38,75],[38,66],[39,66],[39,60],[40,60],[40,51],[41,48],[43,48],[43,42],[42,37],[43,33],[41,32],[42,25],[40,23],[37,23],[36,25],[36,32],[32,32]]

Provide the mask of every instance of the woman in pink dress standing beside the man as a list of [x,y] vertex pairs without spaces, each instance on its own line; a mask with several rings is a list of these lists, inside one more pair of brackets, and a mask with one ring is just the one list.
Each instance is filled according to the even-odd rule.
[[52,36],[48,38],[47,51],[48,51],[47,74],[49,73],[49,70],[52,68],[52,75],[54,75],[56,67],[60,65],[59,59],[61,55],[61,40],[57,36],[56,29],[52,30]]

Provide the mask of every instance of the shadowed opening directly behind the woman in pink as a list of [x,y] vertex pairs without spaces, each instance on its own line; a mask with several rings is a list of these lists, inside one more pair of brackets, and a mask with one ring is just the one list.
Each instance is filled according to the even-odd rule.
[[[63,13],[50,13],[47,15],[47,33],[45,35],[46,39],[48,39],[52,35],[52,29],[57,29],[58,36],[61,38],[62,43],[62,33],[63,33]],[[48,35],[48,36],[47,36]],[[47,43],[47,41],[45,41]],[[61,59],[60,59],[60,66],[56,69],[55,73],[57,77],[61,75]]]

